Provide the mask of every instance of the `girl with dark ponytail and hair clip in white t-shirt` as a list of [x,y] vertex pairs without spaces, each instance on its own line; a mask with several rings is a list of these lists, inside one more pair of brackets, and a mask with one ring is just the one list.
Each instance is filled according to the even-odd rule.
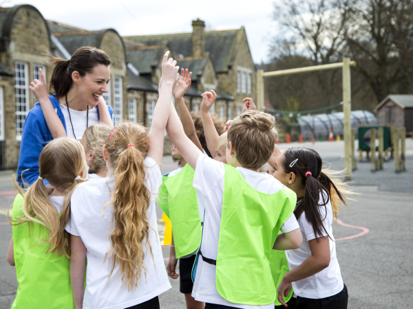
[[273,176],[297,194],[294,214],[303,236],[299,249],[286,251],[288,271],[278,287],[286,306],[293,284],[295,309],[347,308],[348,293],[337,261],[332,223],[350,194],[346,185],[321,170],[319,154],[308,148],[289,148],[279,155]]

